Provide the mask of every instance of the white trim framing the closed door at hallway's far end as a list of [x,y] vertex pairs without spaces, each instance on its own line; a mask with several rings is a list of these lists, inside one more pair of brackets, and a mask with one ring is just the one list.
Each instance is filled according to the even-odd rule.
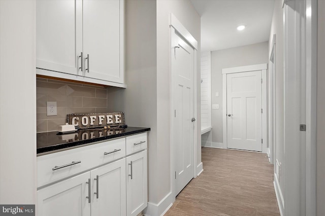
[[268,64],[256,64],[256,65],[247,65],[240,67],[231,67],[222,69],[222,143],[224,148],[228,148],[227,141],[227,74],[229,73],[241,73],[248,71],[261,70],[262,72],[262,108],[265,111],[262,114],[262,139],[264,140],[262,144],[262,152],[267,153],[267,78],[266,72],[268,69]]

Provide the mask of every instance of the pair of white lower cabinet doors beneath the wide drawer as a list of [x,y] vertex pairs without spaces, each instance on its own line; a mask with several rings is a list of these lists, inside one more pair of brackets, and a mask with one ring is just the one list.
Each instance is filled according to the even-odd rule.
[[48,186],[37,192],[38,215],[125,215],[125,180],[123,158]]

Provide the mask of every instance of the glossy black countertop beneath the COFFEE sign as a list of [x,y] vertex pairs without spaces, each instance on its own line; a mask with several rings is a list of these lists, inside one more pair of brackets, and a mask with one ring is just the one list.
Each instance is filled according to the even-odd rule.
[[51,153],[52,151],[77,147],[93,142],[124,137],[150,131],[149,127],[126,127],[110,130],[78,130],[74,133],[59,134],[45,132],[37,134],[37,154]]

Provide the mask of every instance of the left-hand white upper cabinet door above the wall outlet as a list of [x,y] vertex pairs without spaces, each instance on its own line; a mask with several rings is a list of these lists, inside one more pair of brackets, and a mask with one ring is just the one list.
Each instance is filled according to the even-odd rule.
[[36,67],[83,75],[82,1],[36,1]]

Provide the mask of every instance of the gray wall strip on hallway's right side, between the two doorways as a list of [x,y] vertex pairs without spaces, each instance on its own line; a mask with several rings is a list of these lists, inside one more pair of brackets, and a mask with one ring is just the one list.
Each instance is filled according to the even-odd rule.
[[[269,51],[272,50],[272,38],[276,34],[276,53],[275,53],[275,76],[276,76],[276,160],[284,167],[284,76],[283,76],[283,52],[284,52],[284,38],[283,38],[283,9],[281,1],[275,1],[273,18],[271,24],[271,32],[269,39]],[[275,161],[276,161],[275,160]],[[281,169],[283,170],[283,169]],[[283,174],[283,173],[282,173]],[[280,174],[281,176],[281,174]],[[284,181],[280,177],[280,188],[283,193]]]

